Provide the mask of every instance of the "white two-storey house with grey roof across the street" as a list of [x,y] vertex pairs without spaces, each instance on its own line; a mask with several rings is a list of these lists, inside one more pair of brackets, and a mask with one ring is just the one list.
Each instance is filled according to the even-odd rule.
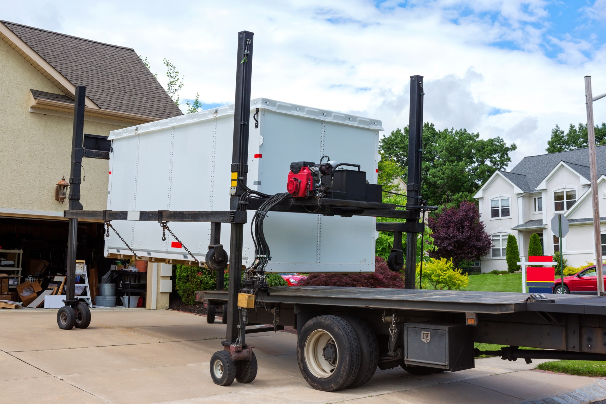
[[[606,146],[596,147],[602,255],[606,253]],[[533,233],[541,237],[545,255],[559,250],[551,219],[563,213],[570,231],[562,237],[568,264],[581,267],[595,262],[589,152],[587,148],[524,157],[511,171],[496,171],[474,195],[480,217],[493,240],[491,252],[482,257],[482,272],[507,270],[507,236],[518,239],[520,256],[527,256]],[[557,233],[558,229],[554,229]]]

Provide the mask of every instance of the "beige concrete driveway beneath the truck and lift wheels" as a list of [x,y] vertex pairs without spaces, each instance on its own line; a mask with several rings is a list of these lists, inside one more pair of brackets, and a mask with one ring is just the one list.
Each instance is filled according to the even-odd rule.
[[247,337],[258,376],[247,385],[222,387],[208,368],[224,336],[220,322],[170,310],[93,309],[88,329],[70,331],[58,328],[56,310],[0,310],[0,402],[497,404],[566,393],[551,403],[606,396],[605,380],[539,373],[524,361],[499,358],[430,376],[378,371],[360,388],[316,391],[299,373],[296,335],[285,332]]

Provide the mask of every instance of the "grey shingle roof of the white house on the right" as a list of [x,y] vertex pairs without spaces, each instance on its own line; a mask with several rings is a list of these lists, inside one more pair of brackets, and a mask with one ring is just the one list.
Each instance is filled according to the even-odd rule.
[[[556,168],[556,165],[561,161],[566,162],[573,170],[577,171],[585,178],[590,179],[588,177],[588,148],[524,157],[510,173],[523,174],[528,182],[528,191],[534,191],[536,187],[541,184],[542,180],[544,180],[545,177],[551,173],[551,170]],[[571,161],[576,163],[570,163]],[[601,176],[601,174],[606,174],[606,145],[596,147],[596,161],[598,162],[598,177]],[[524,188],[522,188],[522,190],[524,190]]]

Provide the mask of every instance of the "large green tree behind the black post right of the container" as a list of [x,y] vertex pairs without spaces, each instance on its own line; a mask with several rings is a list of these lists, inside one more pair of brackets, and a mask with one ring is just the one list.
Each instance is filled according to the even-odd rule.
[[[448,199],[457,205],[470,200],[494,171],[511,162],[509,154],[516,150],[515,144],[508,146],[501,137],[479,136],[465,129],[437,130],[428,122],[423,125],[421,196],[430,205],[441,205]],[[381,139],[379,150],[399,165],[407,182],[408,127]]]

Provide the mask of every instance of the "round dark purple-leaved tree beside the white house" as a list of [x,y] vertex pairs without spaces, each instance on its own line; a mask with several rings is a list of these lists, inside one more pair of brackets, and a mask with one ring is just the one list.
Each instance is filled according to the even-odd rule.
[[428,225],[433,231],[433,243],[438,247],[430,256],[451,258],[456,268],[464,261],[480,259],[492,247],[490,235],[473,202],[462,202],[458,208],[449,208],[438,217],[430,217]]

